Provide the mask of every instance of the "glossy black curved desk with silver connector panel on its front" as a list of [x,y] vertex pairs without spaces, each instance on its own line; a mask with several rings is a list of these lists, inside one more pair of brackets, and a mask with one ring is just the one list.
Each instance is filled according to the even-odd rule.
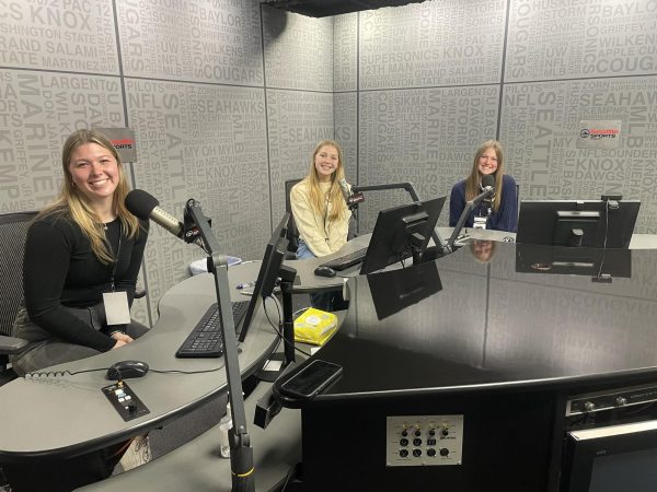
[[[463,247],[350,279],[345,321],[314,356],[342,378],[286,402],[303,415],[304,490],[558,490],[564,435],[587,420],[567,420],[568,401],[657,391],[657,250],[567,249],[496,243],[480,262]],[[611,282],[592,281],[601,273]],[[612,412],[654,419],[649,407]],[[427,461],[428,441],[408,444],[417,459],[400,457],[416,427],[420,440],[447,432]]]

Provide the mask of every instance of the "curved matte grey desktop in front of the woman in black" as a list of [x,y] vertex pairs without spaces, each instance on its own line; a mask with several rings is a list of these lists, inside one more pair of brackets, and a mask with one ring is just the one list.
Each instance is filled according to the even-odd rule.
[[[231,297],[244,301],[234,288],[257,274],[260,263],[229,268]],[[0,388],[0,461],[74,457],[162,426],[227,389],[223,359],[176,359],[187,333],[216,302],[214,277],[200,274],[168,291],[159,304],[160,318],[140,339],[117,350],[48,371],[107,367],[139,360],[150,366],[140,378],[126,379],[150,413],[125,422],[101,388],[113,382],[105,371],[56,377],[19,378]],[[261,367],[277,340],[261,307],[239,355],[242,376]],[[200,374],[159,374],[159,371],[216,371]]]

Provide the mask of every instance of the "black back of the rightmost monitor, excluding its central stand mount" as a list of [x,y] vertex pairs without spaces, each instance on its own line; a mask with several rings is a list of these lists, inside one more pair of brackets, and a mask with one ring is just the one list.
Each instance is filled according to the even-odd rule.
[[[595,237],[586,237],[581,247],[619,248],[630,246],[641,201],[619,200],[612,208],[609,200],[522,200],[516,242],[544,246],[568,246],[555,238],[558,212],[598,212]],[[575,220],[575,219],[574,219]]]

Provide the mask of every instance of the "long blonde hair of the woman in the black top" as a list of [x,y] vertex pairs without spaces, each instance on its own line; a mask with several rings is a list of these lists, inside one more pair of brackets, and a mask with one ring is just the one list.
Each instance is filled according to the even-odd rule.
[[59,196],[53,203],[46,206],[38,213],[36,219],[38,220],[50,214],[68,213],[73,222],[80,226],[84,235],[89,238],[91,243],[91,249],[96,258],[99,258],[99,260],[103,263],[110,263],[114,260],[114,257],[107,245],[103,223],[93,210],[84,194],[73,186],[73,179],[69,171],[71,154],[76,151],[76,149],[85,143],[96,143],[108,150],[114,159],[116,159],[118,166],[118,185],[116,186],[114,196],[112,197],[112,212],[120,219],[122,229],[124,233],[127,233],[128,237],[135,237],[139,233],[139,220],[128,212],[128,209],[126,209],[124,203],[126,195],[128,195],[130,188],[124,173],[120,157],[107,137],[97,130],[77,130],[66,139],[61,150],[64,180],[61,183]]

